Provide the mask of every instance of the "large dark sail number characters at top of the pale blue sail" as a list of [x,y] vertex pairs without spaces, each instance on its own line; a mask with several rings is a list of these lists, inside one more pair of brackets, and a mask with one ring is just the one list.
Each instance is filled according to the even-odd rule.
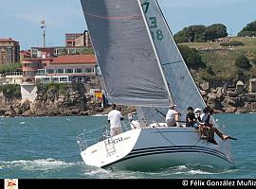
[[[142,9],[144,10],[145,16],[147,17],[147,13],[149,12],[149,9],[150,9],[149,0],[142,3],[141,6],[142,6]],[[147,17],[147,21],[148,21],[149,27],[151,28],[151,35],[153,40],[155,40],[156,38],[158,41],[162,41],[164,38],[163,31],[157,28],[156,17],[155,16]]]

